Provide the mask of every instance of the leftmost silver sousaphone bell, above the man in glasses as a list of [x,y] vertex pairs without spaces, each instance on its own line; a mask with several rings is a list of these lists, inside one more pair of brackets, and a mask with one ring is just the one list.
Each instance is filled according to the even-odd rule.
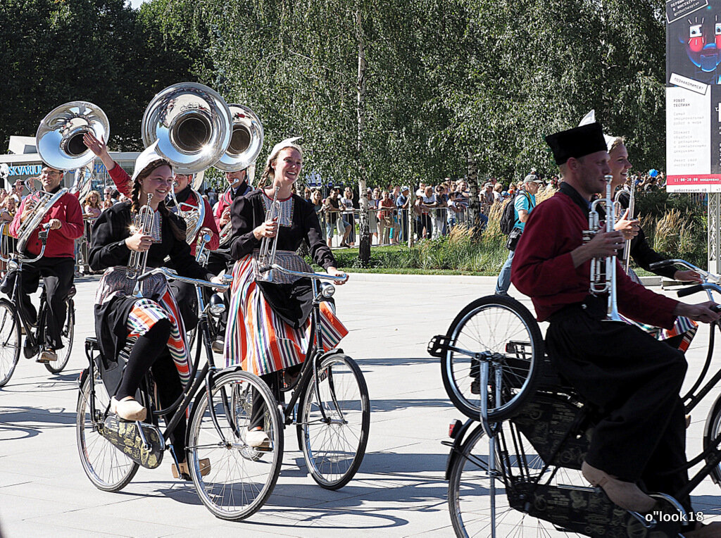
[[44,162],[60,170],[72,170],[93,162],[95,155],[83,142],[85,133],[105,141],[110,123],[100,107],[87,101],[71,101],[48,113],[35,133],[37,153]]

